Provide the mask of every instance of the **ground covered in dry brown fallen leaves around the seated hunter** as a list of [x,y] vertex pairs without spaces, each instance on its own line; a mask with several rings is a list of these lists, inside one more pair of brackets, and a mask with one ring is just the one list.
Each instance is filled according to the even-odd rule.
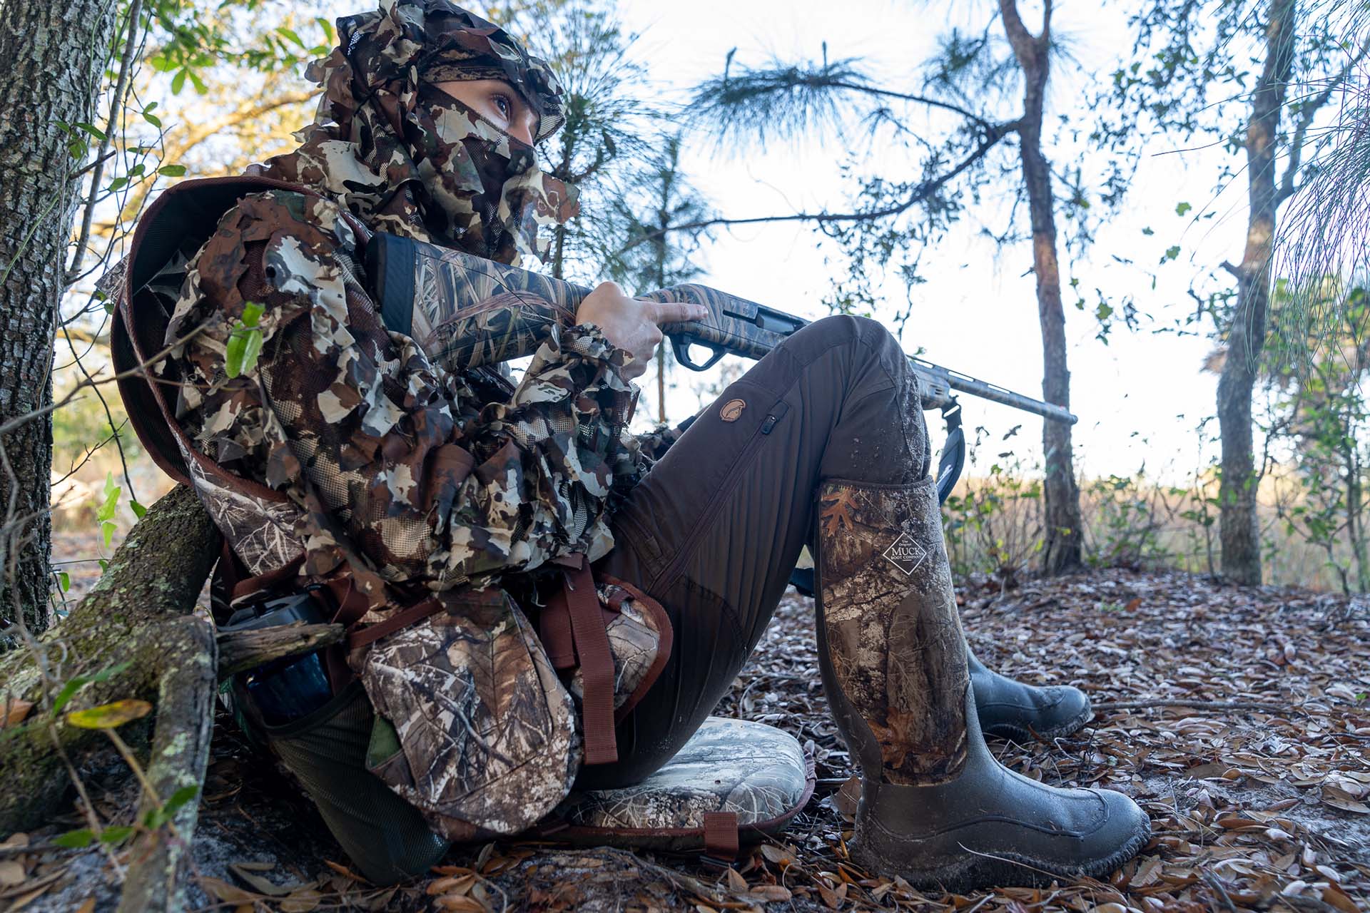
[[[793,590],[717,710],[793,734],[819,786],[789,830],[730,869],[690,856],[518,840],[449,853],[430,877],[377,888],[348,866],[308,799],[216,728],[195,836],[203,910],[1344,910],[1370,909],[1370,604],[1171,572],[1100,571],[959,591],[978,656],[1064,682],[1095,720],[1055,743],[991,749],[1058,786],[1122,790],[1154,838],[1106,880],[970,895],[915,891],[845,856],[851,765],[819,684],[812,601]],[[110,765],[84,772],[105,820],[133,803]],[[0,910],[112,909],[114,862],[41,849],[81,827],[0,840]],[[0,835],[3,836],[3,835]],[[21,846],[34,849],[23,850]],[[8,849],[5,849],[8,847]]]

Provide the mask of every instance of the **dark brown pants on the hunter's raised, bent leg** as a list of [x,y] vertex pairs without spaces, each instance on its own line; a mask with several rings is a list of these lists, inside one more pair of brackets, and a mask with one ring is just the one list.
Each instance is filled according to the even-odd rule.
[[918,383],[874,320],[833,316],[785,339],[704,409],[614,515],[597,568],[674,628],[662,676],[618,727],[616,764],[578,786],[649,776],[727,691],[812,538],[823,479],[912,485],[929,472]]

